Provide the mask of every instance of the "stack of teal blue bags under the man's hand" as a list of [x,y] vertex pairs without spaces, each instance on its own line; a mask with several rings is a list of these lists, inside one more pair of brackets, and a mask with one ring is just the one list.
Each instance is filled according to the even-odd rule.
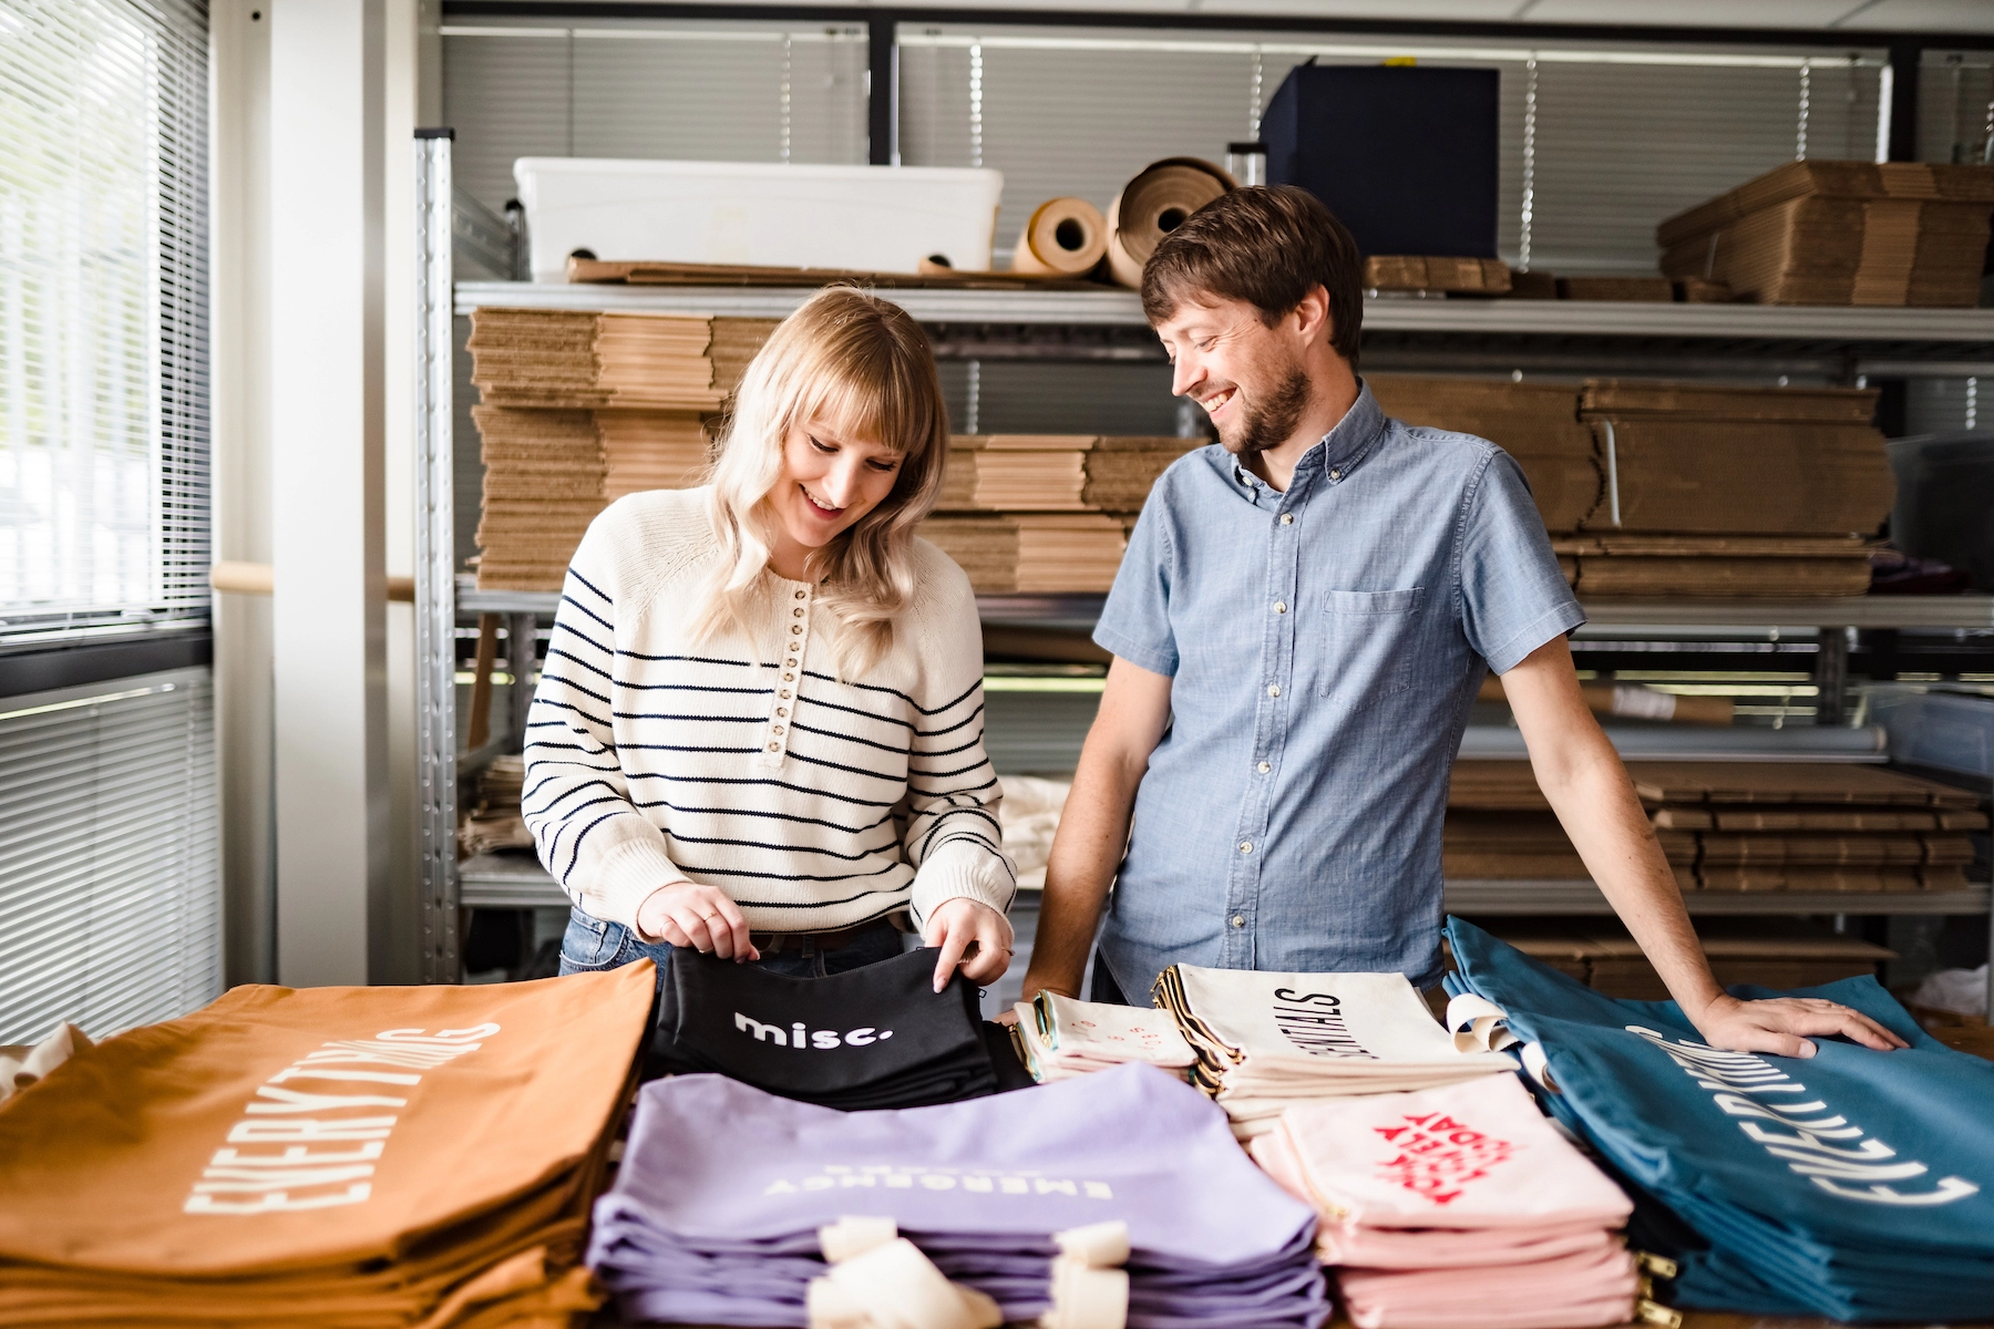
[[1836,1321],[1994,1307],[1994,1064],[1932,1040],[1874,978],[1793,996],[1852,1006],[1908,1048],[1817,1038],[1811,1058],[1759,1056],[1711,1048],[1675,1002],[1591,992],[1460,919],[1448,940],[1448,986],[1541,1052],[1545,1106],[1619,1172],[1635,1245],[1675,1261],[1657,1295]]

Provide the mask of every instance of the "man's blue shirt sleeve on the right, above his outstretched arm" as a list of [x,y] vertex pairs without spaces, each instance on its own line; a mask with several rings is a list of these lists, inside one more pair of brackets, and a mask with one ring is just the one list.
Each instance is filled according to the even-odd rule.
[[[1121,584],[1117,582],[1117,588]],[[1462,526],[1462,628],[1490,669],[1507,673],[1585,622],[1515,460],[1497,450]]]

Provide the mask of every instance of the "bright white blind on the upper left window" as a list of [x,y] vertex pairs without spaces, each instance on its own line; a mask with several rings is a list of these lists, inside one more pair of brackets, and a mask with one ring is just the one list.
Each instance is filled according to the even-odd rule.
[[207,26],[0,0],[0,640],[207,612]]

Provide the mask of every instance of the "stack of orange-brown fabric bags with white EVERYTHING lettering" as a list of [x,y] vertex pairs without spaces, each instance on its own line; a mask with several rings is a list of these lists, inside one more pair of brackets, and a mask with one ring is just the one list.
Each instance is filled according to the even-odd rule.
[[566,1327],[650,964],[245,986],[0,1110],[0,1325]]

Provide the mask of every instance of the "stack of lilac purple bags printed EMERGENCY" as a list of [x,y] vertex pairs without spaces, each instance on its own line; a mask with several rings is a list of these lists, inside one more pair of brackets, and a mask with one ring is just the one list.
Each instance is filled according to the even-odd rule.
[[1127,1319],[1113,1297],[1093,1301],[1107,1329],[1314,1329],[1328,1313],[1314,1213],[1240,1154],[1222,1114],[1153,1066],[849,1114],[720,1076],[646,1084],[588,1263],[632,1321],[851,1323],[814,1283],[845,1263],[863,1219],[889,1219],[1007,1321],[1051,1309],[1055,1325],[1087,1323],[1075,1311],[1115,1279],[1077,1275],[1109,1273],[1099,1265],[1119,1251],[1063,1251],[1055,1233],[1113,1221],[1127,1225]]

